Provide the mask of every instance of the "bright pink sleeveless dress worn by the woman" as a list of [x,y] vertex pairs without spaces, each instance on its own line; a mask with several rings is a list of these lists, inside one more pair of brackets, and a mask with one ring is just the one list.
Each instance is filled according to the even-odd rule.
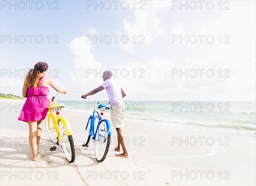
[[22,107],[18,120],[20,121],[39,121],[44,119],[49,109],[49,88],[44,87],[40,82],[45,78],[42,77],[38,81],[38,85],[41,87],[29,87],[28,97],[25,104]]

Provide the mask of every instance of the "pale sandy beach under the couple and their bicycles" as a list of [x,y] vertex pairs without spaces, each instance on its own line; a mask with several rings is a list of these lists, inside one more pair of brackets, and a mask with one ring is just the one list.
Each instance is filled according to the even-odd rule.
[[[89,114],[61,113],[73,129],[76,160],[69,163],[60,148],[50,152],[44,125],[40,159],[30,160],[28,126],[17,118],[23,100],[1,102],[1,185],[255,185],[255,135],[214,127],[180,127],[125,118],[129,158],[113,150],[113,130],[107,158],[98,163],[93,143],[82,147]],[[110,120],[109,116],[105,118]]]

